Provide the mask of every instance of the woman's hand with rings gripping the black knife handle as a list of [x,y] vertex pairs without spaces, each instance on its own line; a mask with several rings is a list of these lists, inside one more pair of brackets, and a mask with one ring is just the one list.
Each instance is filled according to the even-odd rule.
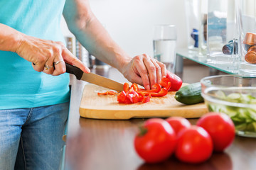
[[16,53],[31,62],[37,72],[45,72],[53,76],[63,74],[66,71],[65,62],[79,67],[83,72],[90,72],[90,69],[85,67],[85,64],[78,60],[63,42],[43,40],[23,34]]

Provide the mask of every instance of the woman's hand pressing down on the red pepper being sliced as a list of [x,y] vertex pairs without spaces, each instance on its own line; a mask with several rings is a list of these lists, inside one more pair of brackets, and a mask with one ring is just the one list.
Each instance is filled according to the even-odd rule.
[[166,76],[166,66],[149,55],[137,55],[124,65],[122,74],[129,81],[141,84],[149,90]]

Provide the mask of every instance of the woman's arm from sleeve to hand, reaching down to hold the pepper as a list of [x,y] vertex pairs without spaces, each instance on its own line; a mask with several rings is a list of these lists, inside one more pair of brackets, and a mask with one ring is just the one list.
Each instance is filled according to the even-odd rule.
[[70,31],[90,54],[117,68],[129,81],[150,89],[166,76],[163,63],[145,54],[130,57],[124,52],[92,13],[87,0],[67,0],[63,16]]

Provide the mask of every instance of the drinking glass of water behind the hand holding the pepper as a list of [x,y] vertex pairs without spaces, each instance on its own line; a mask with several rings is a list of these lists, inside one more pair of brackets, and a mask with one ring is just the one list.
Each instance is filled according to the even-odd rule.
[[155,25],[154,26],[154,58],[166,64],[166,69],[175,72],[176,62],[176,26]]

